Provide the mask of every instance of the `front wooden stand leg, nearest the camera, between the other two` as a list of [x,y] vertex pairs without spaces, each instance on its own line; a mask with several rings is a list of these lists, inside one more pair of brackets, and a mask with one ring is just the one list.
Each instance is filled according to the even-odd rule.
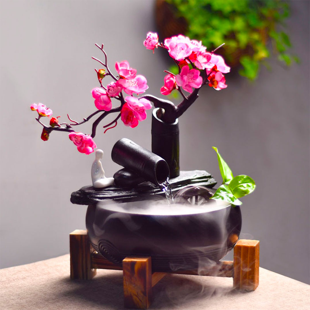
[[123,259],[123,279],[125,307],[147,309],[152,296],[151,257]]

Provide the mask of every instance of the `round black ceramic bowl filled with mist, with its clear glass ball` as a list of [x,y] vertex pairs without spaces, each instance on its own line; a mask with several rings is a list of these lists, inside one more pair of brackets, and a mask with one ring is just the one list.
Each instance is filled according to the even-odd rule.
[[[203,188],[201,194],[201,187],[196,188],[200,194],[190,187],[176,195],[176,205],[137,201],[88,206],[92,246],[117,264],[126,256],[151,256],[153,271],[197,270],[218,262],[238,240],[241,211],[209,200],[210,190]],[[196,205],[184,204],[187,200]]]

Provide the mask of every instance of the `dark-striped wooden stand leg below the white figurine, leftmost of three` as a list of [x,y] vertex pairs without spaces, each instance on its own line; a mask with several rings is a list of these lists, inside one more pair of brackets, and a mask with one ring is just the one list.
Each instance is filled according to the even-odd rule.
[[70,233],[70,277],[89,280],[96,274],[91,269],[91,244],[86,230],[76,229]]

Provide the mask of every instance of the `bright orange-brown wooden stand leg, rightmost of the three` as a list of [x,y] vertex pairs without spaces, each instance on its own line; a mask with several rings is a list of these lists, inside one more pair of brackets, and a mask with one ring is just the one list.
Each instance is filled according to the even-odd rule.
[[259,284],[259,241],[239,240],[234,247],[233,286],[254,291]]

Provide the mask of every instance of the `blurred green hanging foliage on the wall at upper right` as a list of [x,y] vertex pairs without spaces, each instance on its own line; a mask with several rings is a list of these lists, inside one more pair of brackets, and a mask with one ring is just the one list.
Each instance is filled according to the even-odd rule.
[[[286,65],[296,56],[287,50],[291,47],[289,36],[279,30],[289,16],[289,5],[282,0],[166,0],[177,8],[177,17],[188,22],[186,35],[198,39],[212,50],[223,42],[221,50],[228,64],[242,65],[239,73],[254,80],[259,65],[268,58],[270,50]],[[268,38],[272,46],[268,47]]]

